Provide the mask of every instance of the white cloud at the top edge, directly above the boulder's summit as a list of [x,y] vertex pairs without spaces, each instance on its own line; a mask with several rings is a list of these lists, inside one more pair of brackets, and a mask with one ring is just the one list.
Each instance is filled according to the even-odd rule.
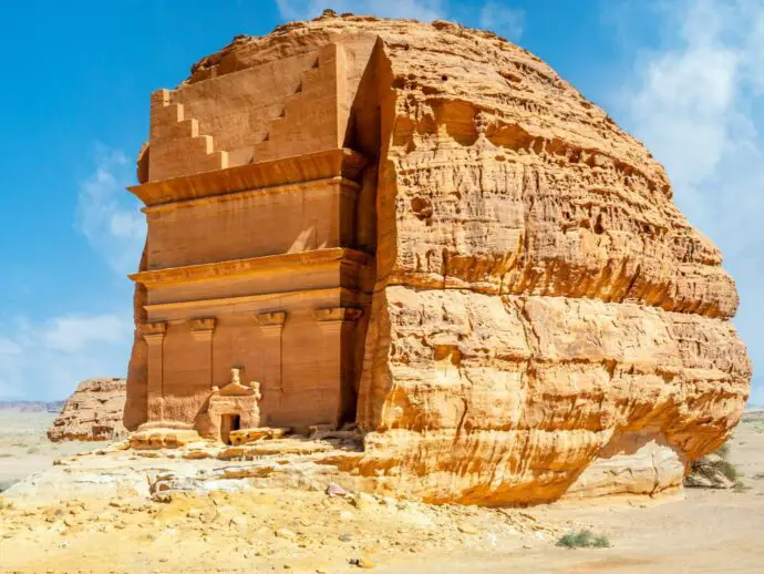
[[445,16],[444,0],[276,0],[276,6],[286,20],[316,18],[327,8],[338,13],[411,18],[423,22],[432,22]]

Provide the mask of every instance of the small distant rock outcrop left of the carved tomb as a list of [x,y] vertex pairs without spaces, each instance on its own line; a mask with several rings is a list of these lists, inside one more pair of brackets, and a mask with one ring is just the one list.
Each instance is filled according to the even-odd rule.
[[123,437],[125,379],[102,378],[81,382],[48,430],[53,442],[105,441]]

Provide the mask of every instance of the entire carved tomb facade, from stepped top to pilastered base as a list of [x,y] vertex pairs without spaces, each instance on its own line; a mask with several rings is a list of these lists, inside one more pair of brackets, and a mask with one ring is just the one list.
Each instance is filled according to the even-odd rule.
[[209,398],[234,367],[260,383],[260,424],[354,417],[373,285],[357,202],[374,180],[342,146],[348,78],[372,45],[329,41],[153,94],[147,176],[131,189],[148,223],[136,321],[152,331],[134,350],[134,420],[219,432]]

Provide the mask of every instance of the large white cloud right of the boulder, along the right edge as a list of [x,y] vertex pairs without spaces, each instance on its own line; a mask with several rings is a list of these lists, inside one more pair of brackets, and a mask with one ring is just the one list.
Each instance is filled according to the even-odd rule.
[[[653,6],[673,40],[639,58],[619,94],[627,123],[665,165],[680,208],[722,249],[741,294],[735,325],[764,365],[764,0]],[[763,382],[754,373],[752,402],[764,402]]]

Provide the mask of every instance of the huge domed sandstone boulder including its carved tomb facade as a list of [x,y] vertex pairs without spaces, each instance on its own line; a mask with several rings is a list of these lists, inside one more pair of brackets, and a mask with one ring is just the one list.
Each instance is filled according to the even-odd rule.
[[[334,75],[322,75],[326,62]],[[679,212],[644,146],[526,50],[448,22],[327,12],[235,39],[157,93],[153,110],[158,131],[134,189],[149,206],[149,240],[135,276],[132,428],[152,412],[157,424],[199,428],[211,386],[227,383],[229,349],[266,311],[285,314],[278,353],[258,339],[265,358],[245,366],[261,381],[260,411],[273,413],[266,423],[326,422],[309,420],[326,348],[301,339],[288,351],[297,329],[317,332],[289,303],[304,306],[308,286],[296,296],[289,277],[328,284],[308,258],[291,276],[258,263],[273,277],[266,287],[245,276],[256,265],[246,258],[334,246],[374,257],[338,256],[355,275],[332,304],[362,312],[347,326],[352,348],[338,342],[332,365],[352,380],[343,401],[353,408],[335,422],[354,420],[365,435],[361,452],[323,463],[359,488],[495,505],[652,495],[680,488],[690,461],[739,421],[751,363],[730,324],[737,295],[719,249]],[[341,168],[352,183],[341,195],[355,203],[340,222],[353,229],[332,244],[316,239],[303,212],[266,209],[286,193],[272,186],[337,176],[311,175],[318,160],[306,163],[335,148],[345,150],[338,162],[363,160]],[[270,221],[241,223],[254,201],[246,193],[268,197],[258,213]],[[245,230],[236,254],[226,252],[237,260],[224,265],[223,236],[189,214],[225,197],[226,228]],[[197,247],[183,252],[184,240]],[[215,290],[226,277],[226,291]],[[237,312],[249,322],[234,326]],[[200,382],[184,388],[190,368],[166,355],[168,340],[190,345],[183,334],[205,314],[219,321],[199,351],[211,359],[195,362]],[[332,319],[345,329],[344,315]],[[275,357],[280,375],[269,379]],[[275,396],[298,397],[303,410],[278,410]]]

